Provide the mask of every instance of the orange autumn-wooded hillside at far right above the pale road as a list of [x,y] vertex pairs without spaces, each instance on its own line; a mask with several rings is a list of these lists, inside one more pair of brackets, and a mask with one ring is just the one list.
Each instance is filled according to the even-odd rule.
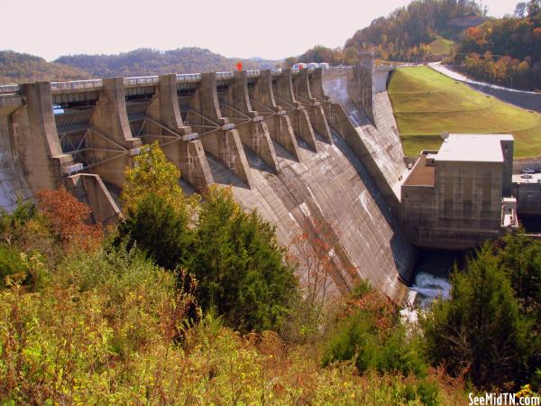
[[473,78],[541,89],[541,2],[518,3],[513,16],[469,28],[455,61]]

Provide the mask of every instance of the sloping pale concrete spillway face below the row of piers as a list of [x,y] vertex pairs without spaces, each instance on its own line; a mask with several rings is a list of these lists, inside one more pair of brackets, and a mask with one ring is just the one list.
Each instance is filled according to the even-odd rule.
[[[316,140],[319,153],[302,149],[302,163],[283,158],[283,148],[276,143],[280,173],[252,166],[254,186],[234,184],[234,196],[243,208],[257,208],[277,226],[282,245],[289,245],[301,226],[333,229],[326,238],[334,250],[337,291],[349,291],[362,278],[401,301],[407,289],[399,280],[408,279],[414,250],[353,150],[338,134],[333,141]],[[249,161],[257,159],[251,152],[247,155]],[[228,183],[228,171],[220,162],[209,163],[216,182]]]

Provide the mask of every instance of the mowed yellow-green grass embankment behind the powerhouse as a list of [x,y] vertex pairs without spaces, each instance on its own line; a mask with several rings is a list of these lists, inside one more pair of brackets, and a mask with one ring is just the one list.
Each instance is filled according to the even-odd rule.
[[541,115],[486,97],[433,69],[396,69],[389,97],[406,155],[438,149],[443,132],[513,134],[515,158],[541,153]]

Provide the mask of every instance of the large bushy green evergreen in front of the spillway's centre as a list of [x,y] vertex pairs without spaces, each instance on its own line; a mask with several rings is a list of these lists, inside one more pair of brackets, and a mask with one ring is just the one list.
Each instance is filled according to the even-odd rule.
[[194,249],[189,269],[204,309],[215,307],[243,332],[280,326],[297,280],[283,262],[274,227],[255,212],[244,213],[230,189],[208,190]]

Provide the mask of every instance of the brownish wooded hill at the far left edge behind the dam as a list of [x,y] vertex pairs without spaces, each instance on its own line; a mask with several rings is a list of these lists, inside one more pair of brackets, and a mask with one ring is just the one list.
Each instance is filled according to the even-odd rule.
[[84,78],[90,75],[83,69],[48,62],[27,53],[0,51],[0,83]]

